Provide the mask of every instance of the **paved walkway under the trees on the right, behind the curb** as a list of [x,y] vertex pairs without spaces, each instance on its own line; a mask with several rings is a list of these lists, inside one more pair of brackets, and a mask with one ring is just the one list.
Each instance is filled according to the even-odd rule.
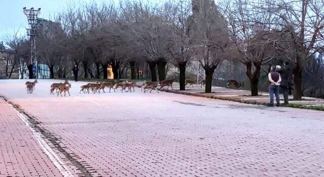
[[[258,96],[251,96],[250,90],[240,90],[240,89],[229,89],[224,87],[212,87],[212,93],[205,93],[205,87],[201,88],[198,85],[193,87],[186,87],[186,90],[179,90],[179,83],[174,83],[174,90],[167,90],[167,87],[164,87],[162,91],[179,93],[191,96],[200,96],[214,99],[222,99],[228,101],[236,101],[249,104],[259,104],[266,105],[269,103],[269,93],[260,92]],[[307,107],[311,106],[323,106],[324,99],[312,98],[312,97],[303,97],[302,100],[293,100],[293,95],[289,95],[290,104],[298,104]],[[284,95],[280,94],[280,103],[284,103]]]

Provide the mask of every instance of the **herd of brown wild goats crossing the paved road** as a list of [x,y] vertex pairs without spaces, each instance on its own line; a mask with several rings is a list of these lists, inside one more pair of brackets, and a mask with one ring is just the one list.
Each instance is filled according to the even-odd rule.
[[[144,93],[148,90],[150,90],[150,93],[152,90],[156,90],[156,92],[158,93],[156,87],[158,86],[158,84],[160,84],[160,89],[162,89],[163,87],[165,86],[168,86],[168,90],[169,90],[169,87],[171,86],[171,88],[173,89],[172,87],[172,84],[173,84],[174,80],[164,80],[164,81],[161,81],[161,82],[150,82],[150,81],[146,81],[143,83],[142,85],[142,89],[141,91],[144,90]],[[25,84],[26,84],[26,88],[27,88],[27,94],[28,93],[32,93],[32,91],[34,90],[35,88],[35,85],[36,85],[37,80],[35,80],[34,82],[29,82],[27,81]],[[193,84],[195,84],[196,81],[195,80],[190,80],[190,79],[186,79],[185,80],[185,85],[187,86],[189,84],[189,87],[192,86],[193,87]],[[203,85],[206,84],[206,80],[201,80],[199,82],[199,85],[201,88],[203,88]],[[110,93],[110,90],[113,89],[113,91],[115,92],[115,90],[117,88],[121,88],[121,92],[125,91],[125,92],[132,92],[132,88],[133,88],[133,91],[135,91],[135,87],[136,87],[136,82],[96,82],[96,83],[88,83],[87,85],[82,85],[80,86],[80,92],[81,91],[83,93],[88,93],[90,92],[90,90],[93,92],[93,93],[100,93],[100,90],[102,90],[104,93],[105,93],[105,88],[109,88],[109,93]],[[233,80],[233,79],[230,79],[228,80],[227,82],[227,87],[228,88],[239,88],[239,87],[242,87],[243,86],[243,83],[238,83],[237,81]],[[54,90],[56,91],[57,93],[57,96],[59,96],[59,94],[61,94],[62,96],[62,92],[64,92],[64,96],[66,96],[66,92],[69,94],[70,96],[70,92],[69,92],[69,89],[71,88],[71,84],[65,80],[64,83],[53,83],[51,85],[51,89],[50,89],[50,94],[53,94],[54,95]]]

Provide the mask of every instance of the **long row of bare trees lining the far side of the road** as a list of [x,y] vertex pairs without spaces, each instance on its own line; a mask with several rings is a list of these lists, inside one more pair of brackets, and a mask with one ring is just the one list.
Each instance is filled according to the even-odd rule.
[[[306,64],[320,62],[312,58],[323,51],[323,8],[319,0],[223,0],[217,6],[212,0],[83,3],[41,25],[37,54],[52,78],[65,76],[76,64],[85,78],[107,78],[111,66],[114,79],[124,68],[135,79],[147,65],[151,80],[161,81],[172,64],[179,68],[180,90],[186,66],[196,60],[206,73],[206,92],[223,61],[239,62],[252,96],[258,95],[260,75],[284,58],[293,66],[294,98],[301,99]],[[26,55],[19,49],[23,42],[28,41],[8,40],[8,45],[17,56]]]

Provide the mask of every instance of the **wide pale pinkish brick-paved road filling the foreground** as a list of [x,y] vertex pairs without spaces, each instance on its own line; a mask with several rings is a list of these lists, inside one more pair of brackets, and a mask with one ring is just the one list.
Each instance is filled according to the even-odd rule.
[[[1,175],[34,176],[28,172],[36,170],[63,175],[56,160],[74,176],[324,174],[322,111],[142,93],[138,88],[133,93],[79,94],[83,82],[72,82],[70,97],[57,97],[50,95],[52,80],[39,80],[34,93],[27,94],[25,81],[1,80],[0,94],[21,108],[58,158],[44,152],[14,108],[2,101],[0,155],[10,157],[0,158]],[[23,145],[17,144],[19,139]]]

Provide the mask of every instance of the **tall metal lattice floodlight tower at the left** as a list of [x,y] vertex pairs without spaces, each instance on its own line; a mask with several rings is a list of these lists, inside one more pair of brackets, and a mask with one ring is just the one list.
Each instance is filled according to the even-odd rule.
[[27,16],[29,29],[27,29],[27,36],[30,38],[30,62],[32,65],[33,76],[38,79],[37,73],[37,58],[36,58],[36,36],[38,35],[38,14],[41,14],[41,8],[34,10],[34,8],[26,9],[23,8],[24,14]]

